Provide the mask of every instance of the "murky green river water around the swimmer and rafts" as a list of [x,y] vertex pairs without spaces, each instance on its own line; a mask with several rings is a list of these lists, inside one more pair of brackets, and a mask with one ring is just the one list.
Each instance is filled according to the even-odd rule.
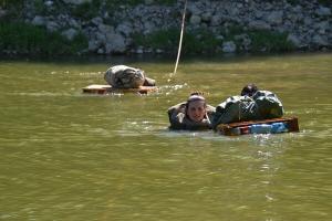
[[[83,95],[124,63],[159,92]],[[328,220],[332,54],[181,61],[0,62],[0,220]],[[168,131],[191,91],[217,105],[255,82],[298,134]]]

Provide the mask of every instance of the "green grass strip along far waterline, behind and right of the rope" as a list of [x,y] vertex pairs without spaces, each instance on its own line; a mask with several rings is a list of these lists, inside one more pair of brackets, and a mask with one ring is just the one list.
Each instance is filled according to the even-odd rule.
[[[247,33],[251,40],[249,45],[250,52],[286,52],[294,50],[294,45],[287,41],[286,33],[278,33],[263,30],[243,31],[238,25],[230,27],[224,31],[224,40],[217,39],[214,33],[205,29],[186,32],[184,34],[183,53],[218,53],[221,50],[222,42],[234,41],[238,49],[241,42],[236,40],[236,35]],[[153,50],[164,50],[167,52],[176,52],[178,48],[179,30],[169,29],[151,33],[148,35],[135,34],[134,45],[144,46]]]

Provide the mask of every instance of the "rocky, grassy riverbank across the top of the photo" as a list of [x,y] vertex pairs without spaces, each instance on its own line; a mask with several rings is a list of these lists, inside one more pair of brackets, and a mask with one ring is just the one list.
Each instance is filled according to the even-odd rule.
[[[1,54],[175,54],[184,1],[15,0],[0,7]],[[330,51],[331,8],[323,0],[190,0],[183,53]]]

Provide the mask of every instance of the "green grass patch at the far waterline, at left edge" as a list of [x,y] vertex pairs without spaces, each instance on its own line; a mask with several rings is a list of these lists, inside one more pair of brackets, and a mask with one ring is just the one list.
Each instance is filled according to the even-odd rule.
[[87,40],[77,34],[72,41],[58,32],[25,23],[0,22],[0,52],[27,54],[75,54],[87,48]]

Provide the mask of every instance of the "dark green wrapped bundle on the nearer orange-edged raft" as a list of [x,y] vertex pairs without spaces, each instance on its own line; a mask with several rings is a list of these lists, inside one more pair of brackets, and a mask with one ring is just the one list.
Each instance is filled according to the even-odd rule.
[[276,94],[258,91],[250,96],[231,96],[216,107],[212,128],[219,124],[281,117],[283,106]]

